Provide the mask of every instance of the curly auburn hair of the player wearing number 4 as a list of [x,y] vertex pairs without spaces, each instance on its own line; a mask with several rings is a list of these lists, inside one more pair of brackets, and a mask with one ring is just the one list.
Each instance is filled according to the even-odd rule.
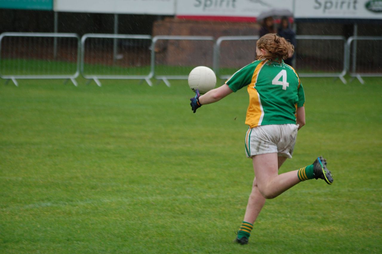
[[256,46],[267,52],[257,56],[257,60],[271,60],[281,63],[283,59],[288,58],[289,53],[295,52],[293,45],[277,34],[265,34],[257,40]]

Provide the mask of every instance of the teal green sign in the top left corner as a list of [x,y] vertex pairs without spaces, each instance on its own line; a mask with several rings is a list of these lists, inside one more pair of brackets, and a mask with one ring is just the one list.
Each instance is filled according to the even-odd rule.
[[53,0],[0,0],[0,8],[53,10]]

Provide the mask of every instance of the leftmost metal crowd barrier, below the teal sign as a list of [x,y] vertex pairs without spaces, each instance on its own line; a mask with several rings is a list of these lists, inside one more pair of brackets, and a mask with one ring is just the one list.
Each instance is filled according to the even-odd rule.
[[68,33],[5,32],[0,35],[0,78],[70,79],[79,75],[79,37]]

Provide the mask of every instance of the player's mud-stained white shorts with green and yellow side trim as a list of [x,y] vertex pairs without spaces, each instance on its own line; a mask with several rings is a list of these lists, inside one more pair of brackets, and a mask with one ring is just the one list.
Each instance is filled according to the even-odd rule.
[[292,158],[298,125],[261,125],[249,128],[245,135],[247,158],[257,154],[271,154]]

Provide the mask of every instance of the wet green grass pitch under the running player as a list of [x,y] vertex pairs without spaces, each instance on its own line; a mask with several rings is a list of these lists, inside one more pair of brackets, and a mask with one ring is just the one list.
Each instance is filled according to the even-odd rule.
[[303,78],[306,126],[281,172],[334,175],[266,202],[251,190],[245,89],[191,112],[186,81],[0,82],[2,253],[380,253],[382,80]]

